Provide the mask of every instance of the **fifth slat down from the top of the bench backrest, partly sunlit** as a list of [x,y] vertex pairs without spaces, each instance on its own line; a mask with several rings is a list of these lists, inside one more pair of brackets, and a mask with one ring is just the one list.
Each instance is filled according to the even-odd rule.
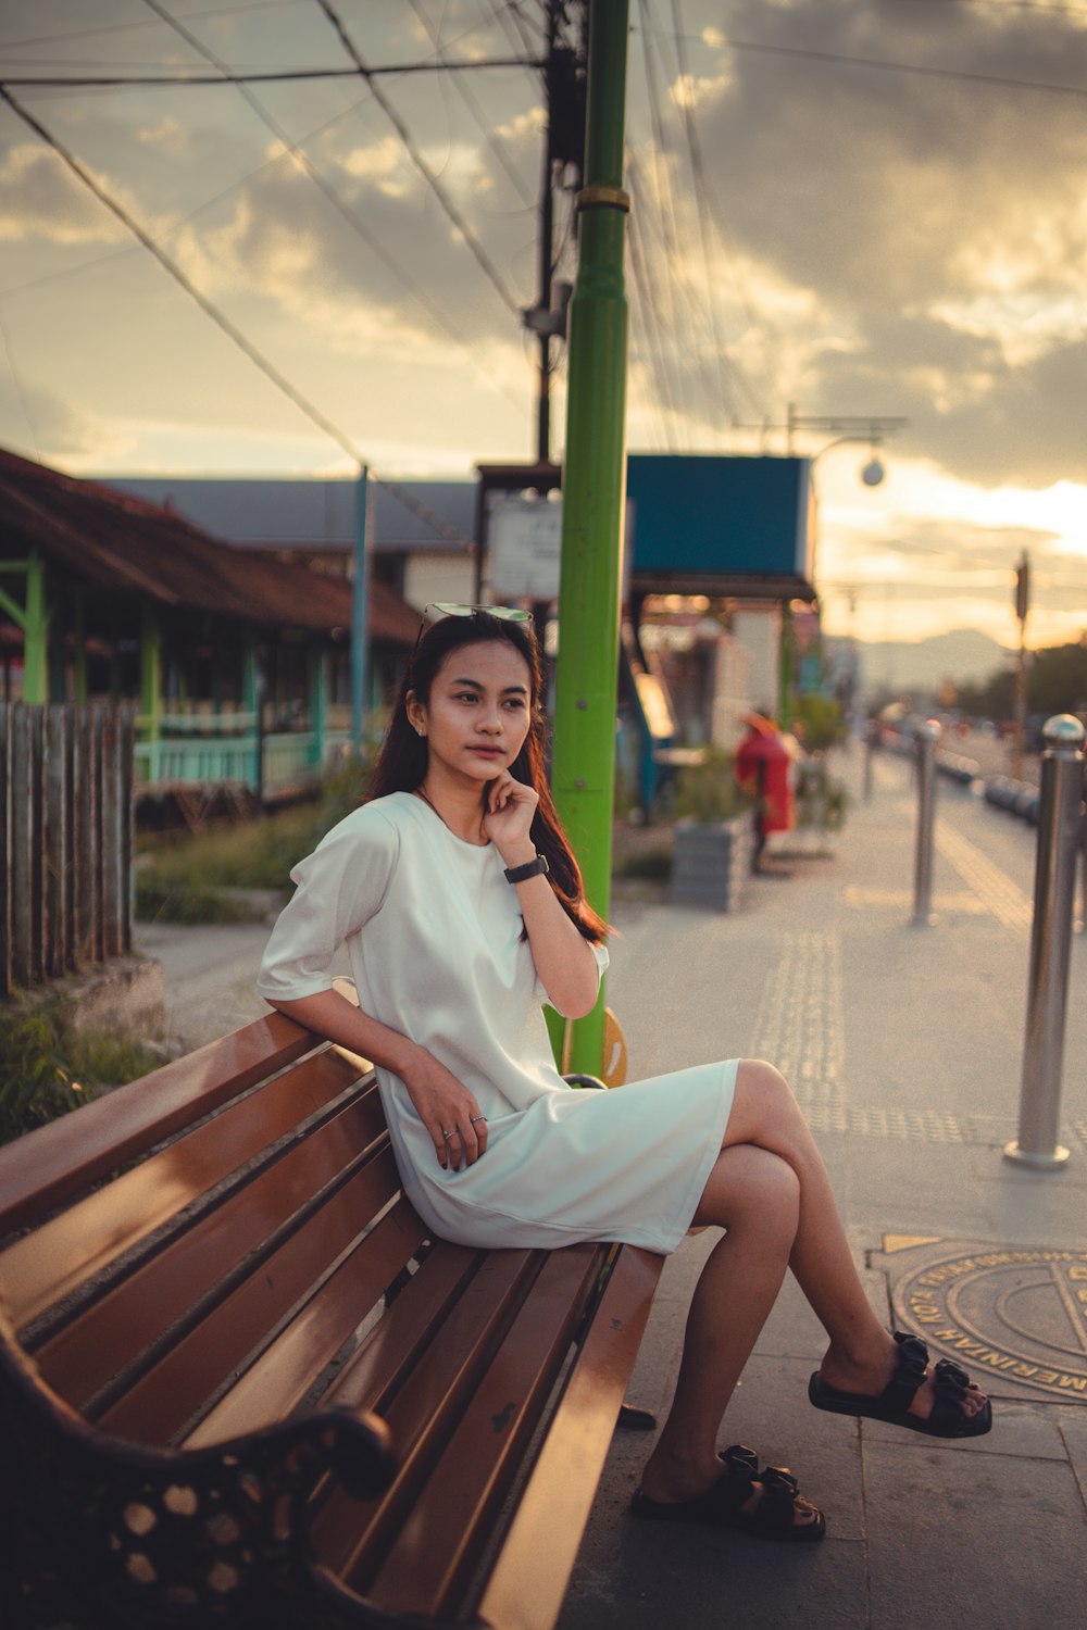
[[204,1416],[184,1447],[202,1449],[238,1438],[297,1410],[310,1394],[315,1376],[342,1350],[367,1309],[383,1296],[425,1237],[417,1213],[404,1198],[398,1200],[275,1343]]

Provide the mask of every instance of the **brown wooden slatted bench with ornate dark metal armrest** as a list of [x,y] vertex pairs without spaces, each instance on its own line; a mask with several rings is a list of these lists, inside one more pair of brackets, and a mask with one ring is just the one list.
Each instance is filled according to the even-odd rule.
[[0,1619],[559,1615],[662,1258],[429,1240],[282,1014],[0,1149]]

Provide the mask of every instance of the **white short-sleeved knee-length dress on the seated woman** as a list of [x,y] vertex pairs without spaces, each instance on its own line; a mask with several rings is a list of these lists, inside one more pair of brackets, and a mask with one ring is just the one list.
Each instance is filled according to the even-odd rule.
[[[456,838],[411,792],[354,810],[292,879],[261,994],[329,989],[345,945],[363,1012],[425,1046],[487,1117],[486,1152],[443,1170],[403,1081],[378,1069],[401,1180],[429,1227],[464,1245],[675,1250],[720,1149],[735,1060],[610,1092],[569,1087],[499,851]],[[608,952],[595,954],[603,970]]]

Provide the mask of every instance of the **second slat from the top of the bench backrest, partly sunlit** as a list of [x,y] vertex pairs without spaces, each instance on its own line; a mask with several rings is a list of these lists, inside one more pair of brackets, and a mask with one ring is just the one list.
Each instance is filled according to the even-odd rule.
[[[31,1324],[300,1120],[318,1113],[354,1079],[345,1060],[331,1050],[318,1053],[16,1240],[0,1258],[0,1293],[13,1322]],[[75,1118],[83,1113],[78,1110]]]

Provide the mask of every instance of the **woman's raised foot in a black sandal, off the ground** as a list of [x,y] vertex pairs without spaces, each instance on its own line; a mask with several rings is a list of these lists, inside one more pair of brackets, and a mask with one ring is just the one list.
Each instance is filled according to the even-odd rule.
[[808,1382],[816,1408],[909,1426],[934,1438],[976,1438],[989,1431],[988,1397],[950,1359],[929,1366],[916,1335],[887,1335],[878,1350],[849,1355],[833,1343]]

